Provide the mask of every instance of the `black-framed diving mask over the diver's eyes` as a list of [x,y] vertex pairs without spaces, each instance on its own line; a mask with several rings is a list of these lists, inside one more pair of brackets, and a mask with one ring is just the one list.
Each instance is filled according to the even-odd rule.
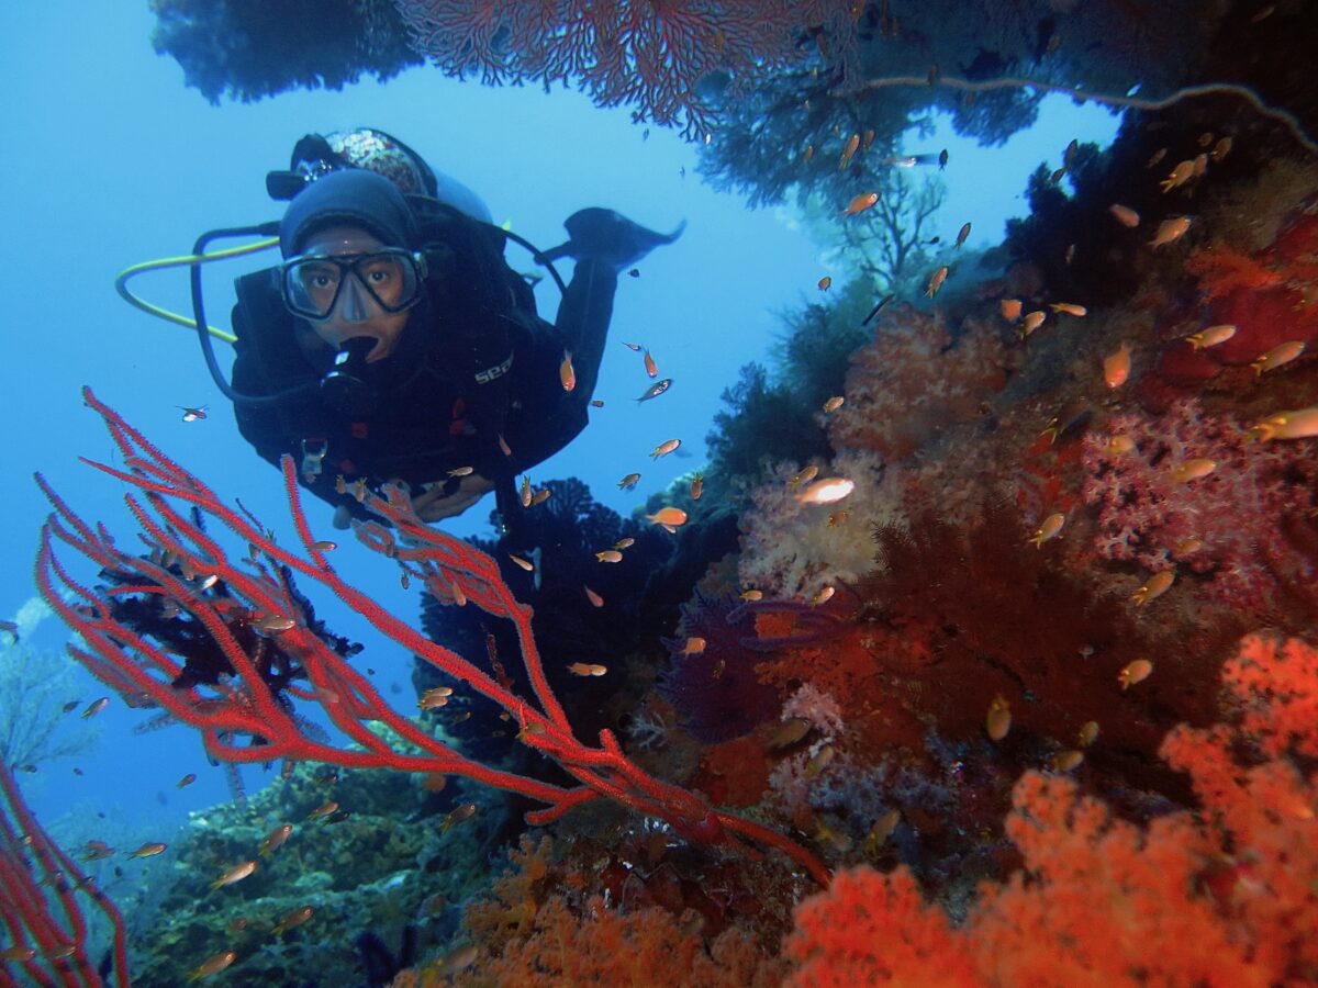
[[419,253],[387,248],[351,257],[294,257],[281,270],[283,304],[304,319],[328,319],[343,299],[348,321],[370,317],[362,292],[390,315],[420,300],[426,260]]

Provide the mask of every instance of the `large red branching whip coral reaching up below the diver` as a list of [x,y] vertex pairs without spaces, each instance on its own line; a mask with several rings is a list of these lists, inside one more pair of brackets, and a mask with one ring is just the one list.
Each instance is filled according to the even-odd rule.
[[[368,495],[368,507],[393,528],[360,524],[358,539],[397,560],[440,603],[469,602],[494,618],[513,622],[534,701],[517,696],[469,660],[428,640],[335,572],[303,514],[290,458],[283,462],[285,485],[304,555],[277,544],[274,535],[256,519],[224,505],[90,391],[84,395],[109,427],[128,469],[98,466],[141,491],[141,499],[128,495],[125,502],[141,524],[152,555],[144,559],[116,548],[103,528],[94,532],[38,478],[55,514],[42,531],[37,582],[46,601],[83,638],[86,648],[71,649],[74,657],[130,705],[166,709],[199,730],[208,754],[221,761],[283,757],[351,768],[455,773],[547,804],[547,809],[529,815],[532,822],[554,819],[602,797],[659,817],[679,834],[701,843],[728,839],[725,826],[755,837],[788,852],[816,880],[826,880],[824,867],[804,848],[718,813],[684,789],[646,775],[608,731],[601,732],[600,747],[579,742],[544,676],[531,634],[531,609],[514,599],[493,559],[427,528],[413,512],[406,491],[386,487],[385,497]],[[179,511],[177,502],[191,507],[191,515]],[[220,541],[203,531],[203,518],[217,520],[236,535],[248,547],[246,555],[229,559]],[[76,582],[57,557],[57,543],[101,565],[103,576],[119,580],[121,586],[92,591]],[[387,639],[496,702],[521,726],[518,738],[556,761],[580,788],[564,789],[467,759],[399,715],[347,663],[351,652],[327,640],[310,615],[310,605],[291,589],[291,574],[320,584]],[[198,651],[195,645],[171,647],[165,640],[167,634],[146,636],[120,619],[116,605],[125,591],[169,605],[174,619],[192,628],[194,639],[206,642],[211,665],[203,668],[198,656],[190,653]],[[186,660],[183,667],[171,651]],[[293,680],[308,681],[310,690],[294,690]],[[306,721],[293,711],[290,694],[319,705],[357,747],[308,734]],[[415,746],[419,754],[395,750],[390,735],[377,725]],[[237,735],[250,736],[256,743],[239,747]]]

